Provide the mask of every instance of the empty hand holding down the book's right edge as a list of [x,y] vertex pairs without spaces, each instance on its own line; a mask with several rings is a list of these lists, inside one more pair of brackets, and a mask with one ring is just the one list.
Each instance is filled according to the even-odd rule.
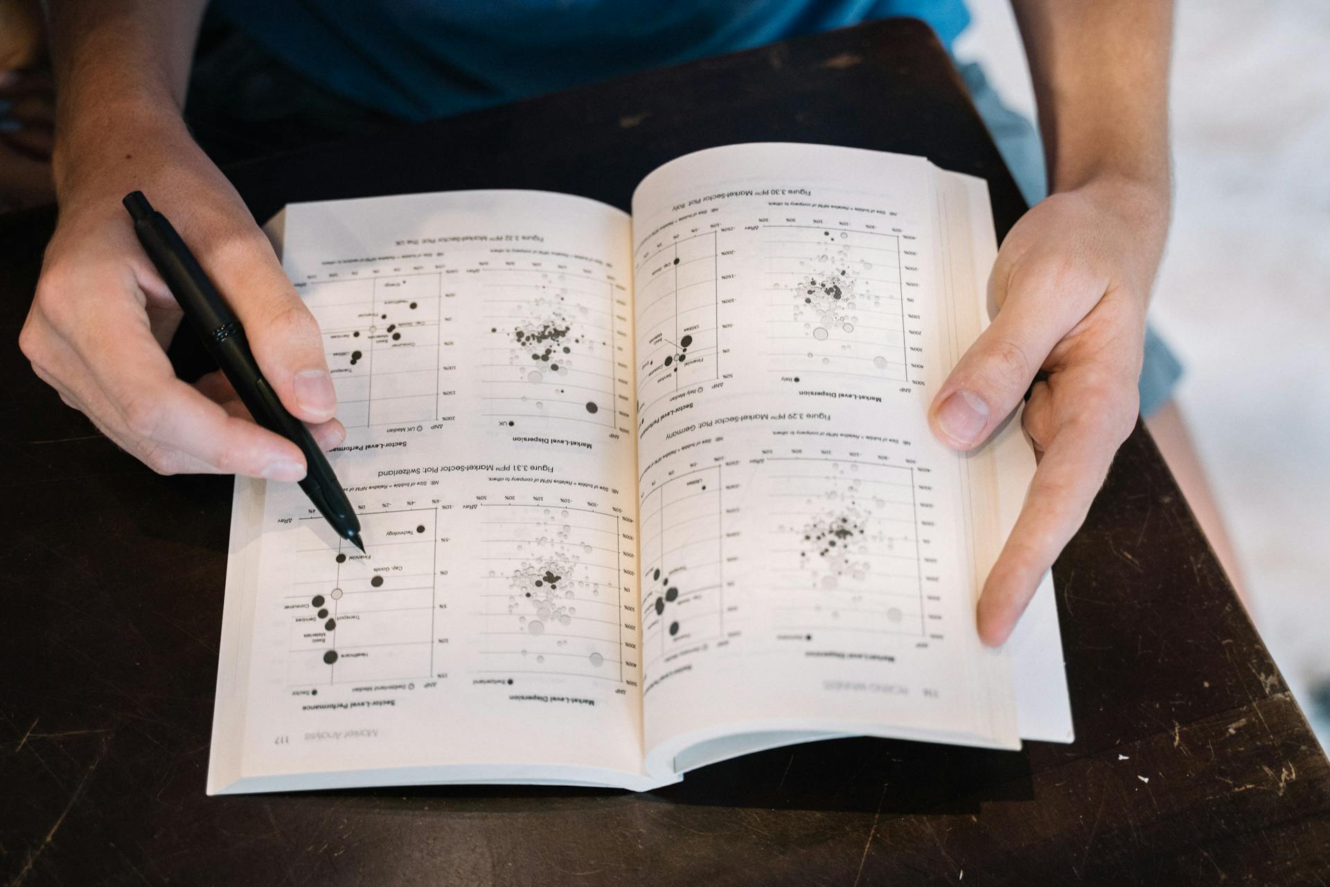
[[1095,180],[1036,205],[998,253],[988,281],[998,315],[930,408],[943,443],[972,449],[1031,391],[1024,424],[1039,468],[979,598],[988,645],[1011,634],[1136,424],[1166,227],[1166,189],[1128,180]]

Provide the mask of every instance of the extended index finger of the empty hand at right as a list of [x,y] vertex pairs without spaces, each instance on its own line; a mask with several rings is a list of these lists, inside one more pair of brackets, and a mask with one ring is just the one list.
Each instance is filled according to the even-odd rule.
[[1117,439],[1104,419],[1075,418],[1059,428],[1029,481],[1011,536],[979,596],[979,637],[1000,646],[1044,573],[1085,521],[1108,476]]

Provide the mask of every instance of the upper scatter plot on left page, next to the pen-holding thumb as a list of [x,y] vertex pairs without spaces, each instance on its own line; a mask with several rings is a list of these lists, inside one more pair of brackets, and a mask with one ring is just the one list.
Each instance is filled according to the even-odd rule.
[[439,287],[428,273],[301,286],[348,428],[438,418]]

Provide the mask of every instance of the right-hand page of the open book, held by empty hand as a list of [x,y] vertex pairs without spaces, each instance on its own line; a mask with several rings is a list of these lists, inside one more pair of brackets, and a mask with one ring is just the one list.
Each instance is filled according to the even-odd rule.
[[634,194],[649,753],[738,727],[1019,743],[974,624],[975,459],[926,420],[958,356],[935,177],[738,145]]

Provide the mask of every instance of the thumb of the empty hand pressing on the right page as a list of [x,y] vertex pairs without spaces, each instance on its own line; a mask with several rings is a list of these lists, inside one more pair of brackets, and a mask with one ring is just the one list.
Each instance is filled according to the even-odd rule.
[[934,398],[932,434],[952,449],[972,449],[1015,410],[1065,330],[1047,314],[1008,299]]

